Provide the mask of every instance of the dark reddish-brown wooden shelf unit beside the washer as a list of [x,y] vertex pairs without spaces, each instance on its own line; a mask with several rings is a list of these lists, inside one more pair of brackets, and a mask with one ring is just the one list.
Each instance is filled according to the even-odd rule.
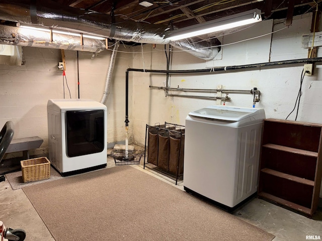
[[311,217],[322,178],[322,124],[264,119],[258,196]]

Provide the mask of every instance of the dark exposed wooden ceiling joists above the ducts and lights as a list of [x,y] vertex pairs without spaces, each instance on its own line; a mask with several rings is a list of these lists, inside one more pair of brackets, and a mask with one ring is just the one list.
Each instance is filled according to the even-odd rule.
[[[34,0],[23,2],[28,4],[28,1],[31,5],[34,3]],[[255,8],[265,14],[264,20],[287,19],[287,24],[290,25],[293,15],[314,12],[315,1],[318,5],[322,5],[322,0],[265,0],[265,2],[264,0],[154,0],[153,5],[147,8],[139,5],[139,0],[56,0],[55,3],[61,7],[106,15],[111,15],[113,8],[115,16],[124,20],[141,21],[151,25],[172,23],[177,28],[183,28]],[[37,0],[37,6],[46,2],[48,0]],[[322,6],[319,6],[319,9],[321,8]]]

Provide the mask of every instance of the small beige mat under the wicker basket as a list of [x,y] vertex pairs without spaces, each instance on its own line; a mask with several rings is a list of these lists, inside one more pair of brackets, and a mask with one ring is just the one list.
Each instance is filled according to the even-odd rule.
[[8,174],[6,174],[6,178],[7,178],[8,182],[10,183],[11,188],[13,190],[16,190],[19,188],[31,186],[31,185],[38,184],[38,183],[61,179],[63,177],[53,167],[50,167],[50,177],[48,179],[24,183],[22,181],[22,172],[21,171],[8,173]]

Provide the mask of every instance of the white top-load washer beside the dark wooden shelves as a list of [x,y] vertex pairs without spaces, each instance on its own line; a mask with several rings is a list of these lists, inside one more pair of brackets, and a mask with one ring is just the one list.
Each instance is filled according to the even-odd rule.
[[186,118],[184,189],[233,208],[256,193],[264,109],[212,105]]

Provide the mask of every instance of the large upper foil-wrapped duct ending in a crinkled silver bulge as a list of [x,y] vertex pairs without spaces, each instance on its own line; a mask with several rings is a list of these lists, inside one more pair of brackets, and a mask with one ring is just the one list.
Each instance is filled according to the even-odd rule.
[[[77,31],[110,39],[147,44],[171,44],[190,54],[212,59],[218,48],[209,48],[208,42],[190,44],[189,41],[171,42],[164,39],[166,25],[151,25],[132,20],[124,20],[106,14],[60,6],[52,1],[11,0],[1,1],[0,18],[21,24],[37,25],[47,28]],[[36,4],[33,4],[36,3]],[[1,37],[1,36],[0,36]],[[39,47],[39,46],[37,46]]]

